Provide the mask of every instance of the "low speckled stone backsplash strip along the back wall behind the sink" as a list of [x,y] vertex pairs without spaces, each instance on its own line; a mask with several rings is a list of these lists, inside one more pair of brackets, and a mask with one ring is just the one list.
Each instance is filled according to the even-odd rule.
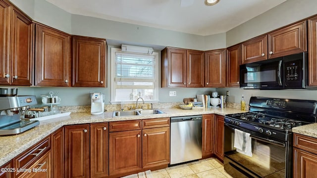
[[[177,108],[178,105],[184,104],[183,102],[167,102],[167,103],[153,103],[153,108],[162,109],[162,108]],[[143,106],[144,109],[150,109],[151,104],[145,103],[140,104],[140,106]],[[80,113],[80,112],[90,112],[90,105],[85,106],[58,106],[59,111],[63,112],[71,112],[71,113]],[[135,108],[135,104],[124,104],[125,110],[130,110],[130,107]],[[228,108],[234,108],[234,109],[240,109],[240,103],[232,103],[227,102],[226,107]],[[107,104],[105,105],[105,110],[107,111],[117,111],[121,110],[120,104]],[[246,110],[249,110],[249,105],[246,104]]]

